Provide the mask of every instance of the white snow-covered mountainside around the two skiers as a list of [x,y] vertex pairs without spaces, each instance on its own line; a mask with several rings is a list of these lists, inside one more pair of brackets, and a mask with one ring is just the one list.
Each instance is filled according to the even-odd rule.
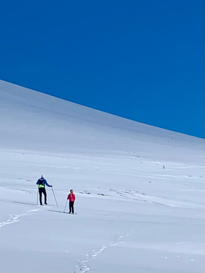
[[204,272],[203,139],[4,81],[0,124],[0,272]]

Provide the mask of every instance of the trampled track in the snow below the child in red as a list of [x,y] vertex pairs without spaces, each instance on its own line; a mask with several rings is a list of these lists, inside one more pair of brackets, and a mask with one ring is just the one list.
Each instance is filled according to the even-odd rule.
[[[132,231],[131,231],[132,232]],[[73,273],[84,273],[86,271],[90,270],[90,267],[87,265],[87,262],[92,261],[93,259],[95,259],[100,253],[103,252],[104,249],[108,248],[108,247],[114,247],[118,244],[122,244],[125,243],[125,241],[121,241],[123,237],[129,236],[131,234],[131,232],[126,233],[125,235],[122,235],[122,233],[120,232],[119,235],[114,234],[113,238],[113,242],[110,245],[103,245],[102,247],[100,247],[100,249],[98,250],[93,250],[93,253],[87,253],[87,254],[83,254],[85,256],[85,258],[83,260],[78,260],[77,265],[75,266],[77,271],[75,269],[73,269]]]

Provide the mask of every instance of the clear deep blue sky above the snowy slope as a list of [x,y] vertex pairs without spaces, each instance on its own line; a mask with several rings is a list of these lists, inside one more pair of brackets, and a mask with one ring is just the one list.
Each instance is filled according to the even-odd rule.
[[204,1],[4,1],[0,25],[2,80],[204,138]]

